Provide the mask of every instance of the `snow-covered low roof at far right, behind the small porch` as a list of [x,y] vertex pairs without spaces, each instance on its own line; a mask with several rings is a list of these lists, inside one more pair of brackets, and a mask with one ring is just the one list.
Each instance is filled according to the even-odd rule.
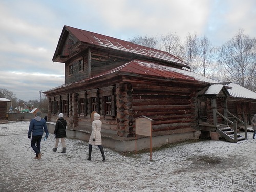
[[256,93],[240,86],[239,84],[230,83],[228,86],[232,87],[229,89],[229,94],[234,98],[247,98],[247,99],[256,99]]

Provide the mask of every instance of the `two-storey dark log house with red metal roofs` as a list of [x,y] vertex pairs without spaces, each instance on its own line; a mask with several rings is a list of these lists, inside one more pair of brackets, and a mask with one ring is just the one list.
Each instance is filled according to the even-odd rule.
[[[65,84],[44,92],[49,126],[64,113],[70,137],[88,140],[90,114],[97,111],[103,145],[118,151],[134,150],[134,119],[141,115],[153,119],[153,147],[198,138],[198,93],[228,84],[186,70],[167,52],[69,26],[52,60],[65,63]],[[148,147],[143,142],[141,137],[141,149]]]

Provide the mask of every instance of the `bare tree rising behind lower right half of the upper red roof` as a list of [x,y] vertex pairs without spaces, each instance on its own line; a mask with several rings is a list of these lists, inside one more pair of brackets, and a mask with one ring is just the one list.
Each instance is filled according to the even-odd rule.
[[180,37],[175,33],[169,32],[166,36],[161,36],[164,51],[176,56],[177,58],[185,59],[184,45],[180,42]]

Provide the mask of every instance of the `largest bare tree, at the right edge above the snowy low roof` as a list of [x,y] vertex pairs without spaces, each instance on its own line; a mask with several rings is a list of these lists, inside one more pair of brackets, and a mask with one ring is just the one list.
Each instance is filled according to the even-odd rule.
[[219,49],[218,62],[224,68],[220,70],[229,81],[240,84],[250,90],[255,90],[256,78],[256,39],[244,34],[239,29],[226,44]]

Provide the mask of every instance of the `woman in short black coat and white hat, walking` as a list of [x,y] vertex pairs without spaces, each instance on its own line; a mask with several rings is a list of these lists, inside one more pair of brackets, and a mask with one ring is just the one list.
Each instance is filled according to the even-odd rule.
[[55,130],[53,132],[54,134],[56,134],[56,136],[55,136],[55,138],[56,138],[55,147],[52,149],[53,152],[57,151],[58,144],[59,144],[59,138],[60,138],[62,148],[63,148],[61,153],[66,153],[66,145],[65,145],[65,137],[67,137],[67,135],[66,135],[66,126],[67,126],[67,121],[64,119],[64,114],[60,113],[59,118],[57,118],[57,120],[56,120]]

